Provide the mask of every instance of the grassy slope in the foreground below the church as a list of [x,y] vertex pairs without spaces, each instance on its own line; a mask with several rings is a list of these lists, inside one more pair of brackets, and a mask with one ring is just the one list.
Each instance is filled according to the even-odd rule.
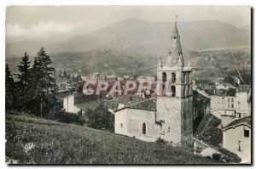
[[[188,149],[24,115],[6,115],[6,139],[6,156],[20,163],[212,163]],[[35,146],[26,154],[28,143]]]

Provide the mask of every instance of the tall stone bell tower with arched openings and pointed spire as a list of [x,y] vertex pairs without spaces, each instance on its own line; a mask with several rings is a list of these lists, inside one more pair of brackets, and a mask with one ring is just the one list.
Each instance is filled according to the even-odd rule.
[[173,146],[191,144],[193,136],[193,97],[192,83],[189,79],[191,67],[185,65],[177,18],[171,37],[171,48],[166,65],[160,59],[157,65],[156,121],[160,121],[160,137]]

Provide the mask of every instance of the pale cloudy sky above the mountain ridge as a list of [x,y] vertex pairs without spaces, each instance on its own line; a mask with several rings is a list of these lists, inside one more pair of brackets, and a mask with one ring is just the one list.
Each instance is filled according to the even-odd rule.
[[173,21],[176,15],[178,21],[219,20],[237,27],[251,23],[249,6],[10,6],[6,8],[6,40],[66,38],[119,20]]

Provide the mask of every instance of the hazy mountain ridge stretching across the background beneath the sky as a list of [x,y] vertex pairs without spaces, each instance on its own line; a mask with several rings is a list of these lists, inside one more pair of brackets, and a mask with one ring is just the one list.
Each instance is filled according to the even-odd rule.
[[[90,34],[74,36],[60,42],[8,42],[6,57],[20,56],[25,51],[36,54],[41,46],[48,53],[86,52],[95,49],[115,48],[141,54],[167,54],[173,22],[121,20]],[[83,30],[82,27],[75,28]],[[217,20],[177,23],[183,50],[251,46],[250,26],[237,28]]]

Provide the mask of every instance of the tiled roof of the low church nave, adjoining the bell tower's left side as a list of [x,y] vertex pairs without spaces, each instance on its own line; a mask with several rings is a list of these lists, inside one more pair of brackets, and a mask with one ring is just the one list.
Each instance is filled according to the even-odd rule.
[[149,110],[155,111],[156,110],[156,99],[147,99],[137,104],[131,104],[128,108],[138,109],[138,110]]

